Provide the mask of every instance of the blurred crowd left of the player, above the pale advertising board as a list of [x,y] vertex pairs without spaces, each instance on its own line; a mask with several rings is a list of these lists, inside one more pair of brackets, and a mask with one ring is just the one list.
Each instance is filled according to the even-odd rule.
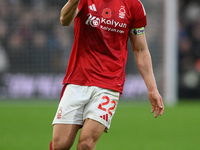
[[[57,0],[0,0],[0,72],[63,72],[73,28],[60,25]],[[7,61],[7,62],[5,62]],[[9,64],[9,65],[5,65]]]

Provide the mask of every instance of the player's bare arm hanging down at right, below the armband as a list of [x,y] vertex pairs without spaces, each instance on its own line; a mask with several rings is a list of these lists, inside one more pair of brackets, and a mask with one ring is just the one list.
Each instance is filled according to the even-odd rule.
[[[138,31],[140,32],[142,30]],[[151,55],[147,46],[145,34],[144,33],[138,34],[137,30],[135,30],[130,34],[130,40],[133,52],[135,54],[135,59],[138,69],[148,89],[148,96],[152,105],[151,112],[153,113],[155,111],[155,118],[156,118],[158,115],[161,116],[163,114],[164,105],[162,97],[157,89],[153,73]]]

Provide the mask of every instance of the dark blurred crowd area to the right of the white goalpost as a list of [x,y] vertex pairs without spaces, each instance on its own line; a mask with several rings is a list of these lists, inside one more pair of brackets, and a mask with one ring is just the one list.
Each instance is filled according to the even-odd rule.
[[200,1],[179,2],[179,96],[200,97]]

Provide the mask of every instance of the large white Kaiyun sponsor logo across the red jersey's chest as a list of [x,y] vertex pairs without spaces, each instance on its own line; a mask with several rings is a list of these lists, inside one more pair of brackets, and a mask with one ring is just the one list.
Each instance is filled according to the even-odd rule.
[[127,24],[119,21],[115,21],[114,19],[107,19],[107,18],[99,18],[96,16],[92,16],[92,14],[88,14],[88,19],[86,20],[85,24],[90,25],[92,27],[100,27],[106,31],[124,33],[124,30],[119,28],[125,29],[127,28]]

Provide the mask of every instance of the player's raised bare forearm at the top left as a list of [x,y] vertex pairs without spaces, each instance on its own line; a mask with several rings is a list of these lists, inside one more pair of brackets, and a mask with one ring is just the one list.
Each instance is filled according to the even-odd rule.
[[78,10],[78,4],[80,0],[69,0],[65,6],[61,9],[60,14],[60,23],[63,26],[69,26],[74,18],[77,16],[79,10]]

